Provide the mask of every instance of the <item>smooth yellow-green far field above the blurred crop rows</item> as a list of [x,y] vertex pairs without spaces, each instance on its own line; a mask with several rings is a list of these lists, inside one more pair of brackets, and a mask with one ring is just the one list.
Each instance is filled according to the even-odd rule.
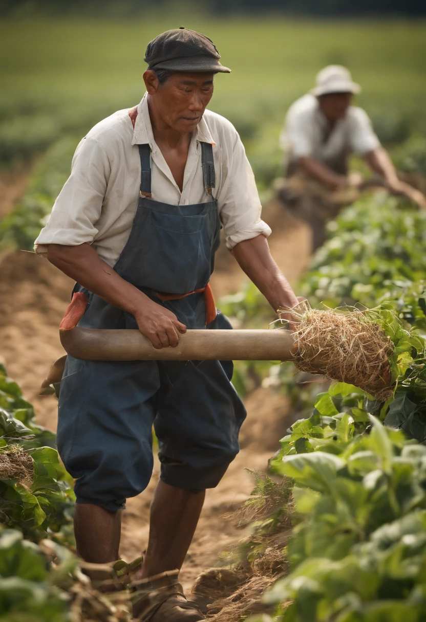
[[[45,102],[106,98],[128,105],[141,93],[147,42],[176,24],[163,22],[3,22],[2,99]],[[310,88],[328,63],[353,70],[367,96],[380,102],[426,95],[425,22],[226,20],[187,24],[209,35],[233,70],[217,79],[220,109],[277,111]],[[219,80],[220,78],[220,80]],[[238,98],[235,101],[235,98]],[[265,106],[265,108],[263,108]]]

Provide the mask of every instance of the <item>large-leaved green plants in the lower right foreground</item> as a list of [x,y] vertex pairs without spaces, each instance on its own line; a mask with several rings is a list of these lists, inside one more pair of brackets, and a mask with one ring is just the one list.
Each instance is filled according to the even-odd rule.
[[424,620],[426,448],[369,420],[358,435],[348,412],[318,417],[315,450],[278,463],[294,482],[296,524],[291,572],[267,595],[292,600],[276,620]]

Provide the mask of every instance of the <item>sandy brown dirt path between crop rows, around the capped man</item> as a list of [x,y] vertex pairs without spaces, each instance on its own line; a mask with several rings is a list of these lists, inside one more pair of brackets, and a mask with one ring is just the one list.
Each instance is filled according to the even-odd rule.
[[[304,226],[284,215],[276,205],[268,206],[265,220],[273,228],[273,256],[294,284],[308,261],[310,236]],[[226,250],[219,255],[212,287],[217,299],[235,292],[246,277]],[[0,355],[9,375],[21,385],[35,406],[37,422],[55,429],[57,402],[39,397],[38,390],[50,363],[62,355],[58,326],[69,302],[72,282],[44,259],[15,252],[0,263]],[[267,389],[257,389],[246,401],[248,417],[241,433],[241,452],[230,465],[220,485],[208,491],[194,542],[187,555],[182,580],[191,587],[199,573],[219,563],[219,554],[242,537],[231,522],[220,518],[236,509],[250,495],[252,477],[246,468],[265,470],[278,448],[278,439],[289,425],[285,399]],[[149,503],[158,478],[155,466],[144,493],[129,499],[123,519],[121,555],[133,559],[146,547]]]

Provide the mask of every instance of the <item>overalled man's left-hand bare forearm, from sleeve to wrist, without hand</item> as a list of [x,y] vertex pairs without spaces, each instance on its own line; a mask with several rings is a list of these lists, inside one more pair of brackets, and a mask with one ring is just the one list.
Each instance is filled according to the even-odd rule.
[[135,313],[143,299],[148,300],[140,290],[102,261],[90,244],[49,244],[47,259],[74,281],[118,309]]

